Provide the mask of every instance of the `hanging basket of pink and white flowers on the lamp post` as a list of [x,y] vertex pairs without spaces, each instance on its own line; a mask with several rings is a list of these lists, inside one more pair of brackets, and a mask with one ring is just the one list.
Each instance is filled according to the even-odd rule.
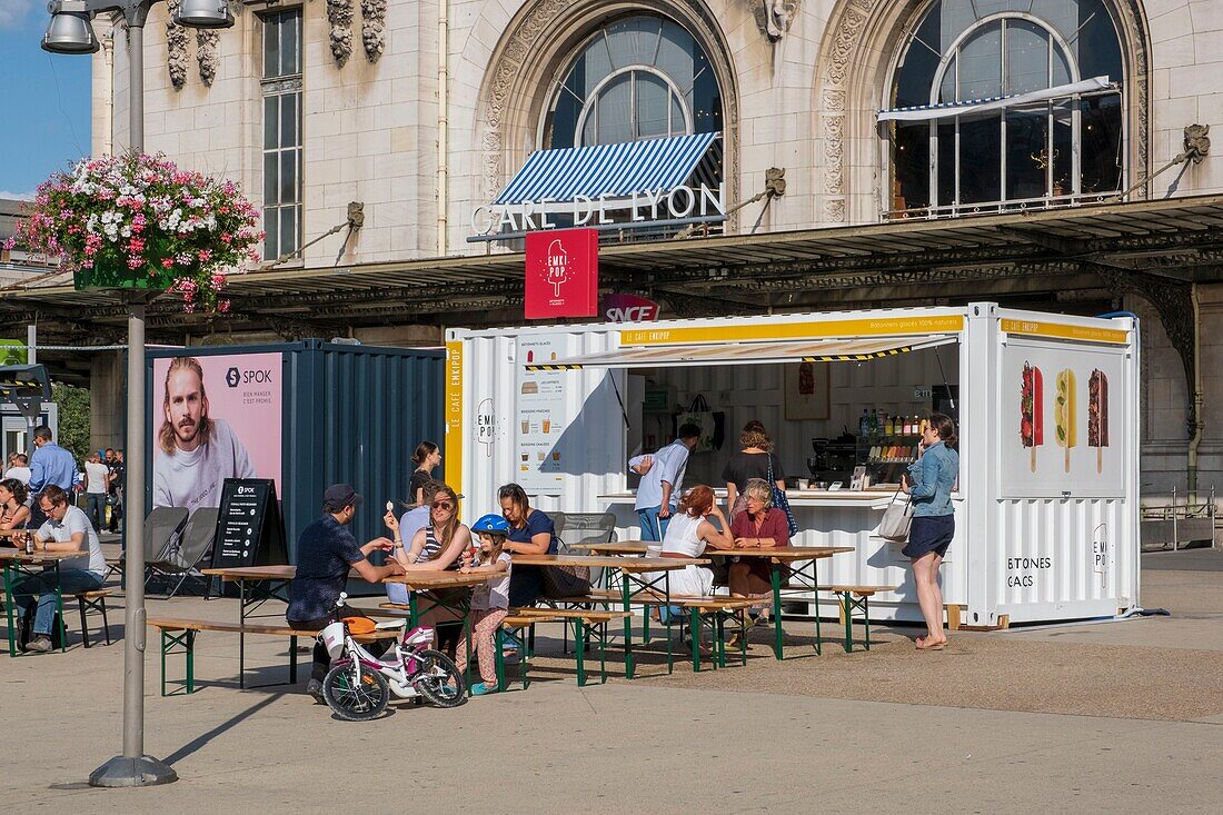
[[259,259],[258,210],[232,181],[164,155],[86,159],[38,188],[18,235],[60,257],[77,289],[182,295],[183,310],[229,311],[226,275]]

